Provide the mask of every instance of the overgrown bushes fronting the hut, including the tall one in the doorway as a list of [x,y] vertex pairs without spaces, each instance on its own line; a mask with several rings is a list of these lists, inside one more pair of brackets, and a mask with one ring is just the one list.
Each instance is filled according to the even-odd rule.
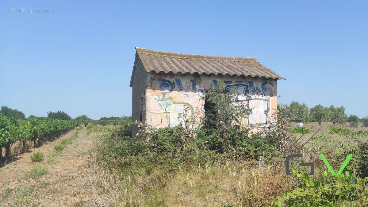
[[[290,121],[282,115],[282,126],[278,129],[270,125],[258,133],[250,133],[250,129],[241,124],[249,108],[236,101],[236,90],[225,90],[219,84],[206,93],[206,98],[213,104],[213,110],[206,111],[205,117],[198,117],[197,111],[190,112],[184,107],[178,126],[155,129],[135,123],[139,129],[138,140],[130,137],[131,122],[123,122],[106,137],[99,149],[102,152],[99,162],[123,171],[140,167],[150,171],[156,167],[169,172],[177,170],[179,164],[258,160],[261,155],[270,160],[290,143]],[[284,137],[282,143],[280,136]]]

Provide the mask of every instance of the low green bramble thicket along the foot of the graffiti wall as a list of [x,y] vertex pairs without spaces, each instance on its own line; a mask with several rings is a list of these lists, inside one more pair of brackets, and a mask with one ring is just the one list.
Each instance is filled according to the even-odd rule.
[[279,147],[278,137],[272,129],[248,136],[248,130],[239,125],[226,129],[226,134],[216,128],[198,128],[197,136],[183,149],[178,134],[181,126],[151,129],[141,134],[142,140],[126,136],[125,127],[115,128],[99,146],[98,163],[109,169],[131,172],[143,168],[147,173],[153,168],[166,172],[177,170],[180,164],[205,165],[219,159],[248,158],[258,160],[275,156]]

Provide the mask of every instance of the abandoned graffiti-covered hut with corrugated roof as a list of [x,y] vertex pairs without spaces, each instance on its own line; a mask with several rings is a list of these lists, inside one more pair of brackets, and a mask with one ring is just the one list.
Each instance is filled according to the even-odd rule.
[[[206,113],[204,92],[221,80],[235,87],[239,100],[251,109],[245,124],[255,131],[274,124],[277,110],[276,81],[284,79],[256,58],[188,55],[135,48],[130,80],[132,121],[154,127],[176,126],[184,107]],[[236,84],[233,84],[235,81]],[[132,127],[132,135],[138,132]]]

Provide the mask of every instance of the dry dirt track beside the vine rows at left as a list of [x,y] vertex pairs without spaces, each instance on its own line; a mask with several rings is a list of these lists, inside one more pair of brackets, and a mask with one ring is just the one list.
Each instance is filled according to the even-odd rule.
[[[91,199],[91,184],[88,182],[87,162],[91,157],[89,149],[93,147],[94,136],[86,133],[86,128],[79,130],[79,134],[67,145],[61,153],[54,157],[52,163],[45,161],[32,163],[30,156],[33,150],[43,152],[45,160],[47,155],[54,153],[54,145],[59,144],[61,139],[70,138],[75,133],[71,130],[64,136],[31,149],[32,152],[21,154],[13,161],[0,168],[0,206],[14,206],[17,199],[17,189],[33,189],[32,198],[35,206],[72,206],[72,204],[89,203]],[[48,171],[45,175],[35,180],[21,179],[26,170],[33,166],[45,166]],[[10,194],[3,196],[6,189]],[[15,194],[15,195],[14,195]],[[74,204],[75,205],[75,204]]]

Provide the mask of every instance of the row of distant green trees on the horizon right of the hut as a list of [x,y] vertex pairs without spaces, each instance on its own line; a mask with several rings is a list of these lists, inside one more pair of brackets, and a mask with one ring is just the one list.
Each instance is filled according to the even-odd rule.
[[343,106],[335,107],[333,105],[324,107],[317,104],[312,108],[308,108],[307,104],[300,104],[298,101],[291,101],[285,105],[286,115],[291,122],[322,122],[346,123],[350,122],[351,126],[357,126],[358,122],[363,122],[365,127],[368,127],[368,116],[360,119],[357,115],[347,116]]

